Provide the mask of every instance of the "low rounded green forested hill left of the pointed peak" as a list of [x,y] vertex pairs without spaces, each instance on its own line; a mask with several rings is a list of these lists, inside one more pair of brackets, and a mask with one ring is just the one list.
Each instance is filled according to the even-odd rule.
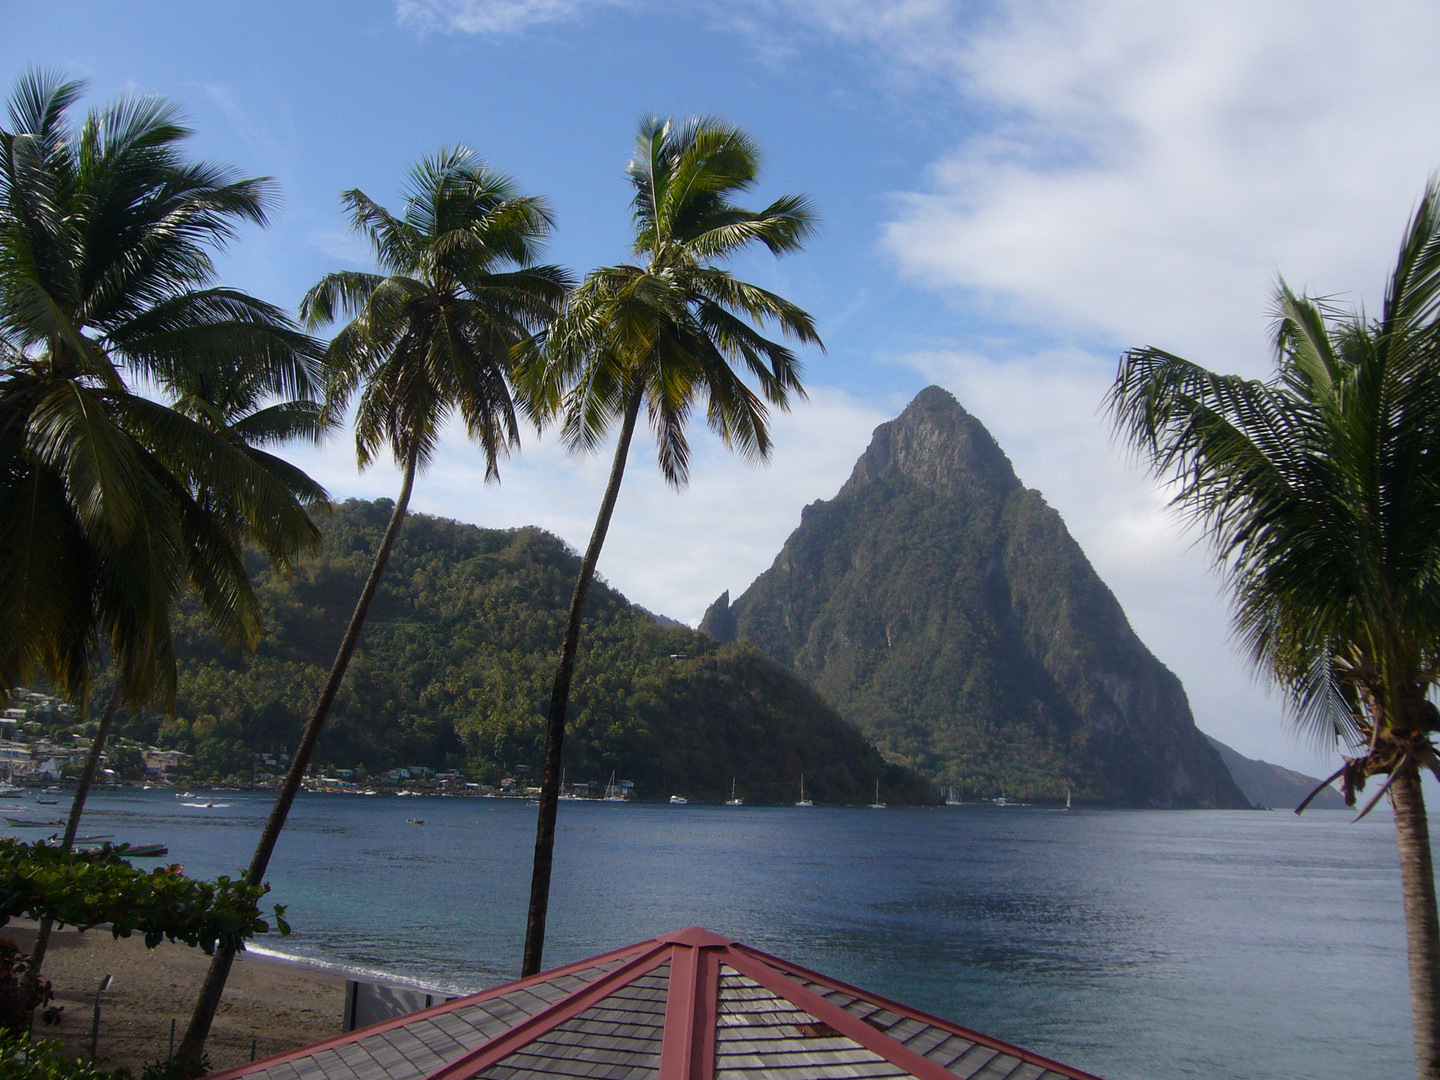
[[[390,513],[350,501],[321,523],[323,553],[295,576],[252,566],[266,615],[253,658],[187,608],[177,622],[176,717],[125,717],[124,733],[196,755],[196,775],[249,778],[255,755],[294,747]],[[577,559],[539,528],[406,521],[346,677],[318,760],[369,773],[461,768],[498,780],[539,773],[543,708]],[[611,772],[641,798],[933,801],[788,670],[749,645],[720,647],[598,583],[572,697],[572,782]],[[272,770],[272,769],[271,769]],[[523,772],[520,775],[524,775]]]

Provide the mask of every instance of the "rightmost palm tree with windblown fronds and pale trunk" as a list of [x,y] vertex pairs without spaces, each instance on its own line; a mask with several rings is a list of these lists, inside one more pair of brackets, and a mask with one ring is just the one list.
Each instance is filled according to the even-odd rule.
[[[1276,372],[1125,354],[1116,429],[1201,526],[1234,631],[1303,729],[1355,749],[1346,802],[1384,776],[1400,842],[1416,1060],[1440,1077],[1440,922],[1420,770],[1440,775],[1440,186],[1410,223],[1378,318],[1276,295]],[[1303,806],[1302,806],[1303,809]]]

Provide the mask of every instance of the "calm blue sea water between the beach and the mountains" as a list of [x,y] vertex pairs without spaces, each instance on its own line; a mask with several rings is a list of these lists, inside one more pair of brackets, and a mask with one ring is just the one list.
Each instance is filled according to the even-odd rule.
[[[271,799],[206,798],[230,805],[99,793],[81,831],[236,874]],[[271,867],[295,933],[256,943],[452,989],[508,981],[534,815],[302,795]],[[562,804],[547,966],[691,923],[1113,1080],[1414,1074],[1381,812]]]

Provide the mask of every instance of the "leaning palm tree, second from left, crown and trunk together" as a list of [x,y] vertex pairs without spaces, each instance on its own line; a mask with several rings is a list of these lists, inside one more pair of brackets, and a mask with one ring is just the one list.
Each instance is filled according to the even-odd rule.
[[[435,452],[451,413],[459,413],[485,454],[485,475],[518,445],[510,392],[514,357],[554,317],[569,278],[534,258],[553,222],[544,200],[471,151],[454,148],[410,173],[405,215],[395,217],[359,190],[343,196],[351,228],[363,232],[384,274],[337,272],[301,304],[310,327],[351,320],[325,350],[325,412],[343,413],[361,386],[356,452],[364,468],[389,446],[403,471],[400,494],[374,563],[346,626],[330,675],[261,834],[246,881],[259,884],[334,704],[370,602],[400,534],[415,474]],[[181,1068],[197,1073],[235,953],[216,949],[190,1027]]]

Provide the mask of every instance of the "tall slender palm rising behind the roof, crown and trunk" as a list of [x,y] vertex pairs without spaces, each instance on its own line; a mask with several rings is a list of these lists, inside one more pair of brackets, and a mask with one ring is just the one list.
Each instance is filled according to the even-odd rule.
[[[798,251],[815,228],[804,196],[783,196],[763,210],[732,202],[755,184],[759,157],[743,131],[719,120],[678,127],[668,120],[642,121],[626,171],[635,189],[634,252],[644,265],[592,271],[567,300],[546,348],[523,373],[536,415],[563,415],[570,451],[598,449],[616,420],[619,441],[580,562],[550,693],[521,975],[539,972],[544,952],[570,678],[641,408],[647,406],[658,441],[661,474],[675,488],[690,475],[685,423],[697,400],[704,400],[706,420],[726,446],[765,461],[770,454],[766,402],[786,409],[792,395],[804,396],[804,387],[795,354],[752,323],[763,327],[773,320],[786,336],[821,344],[801,308],[716,265],[755,243],[775,255]],[[759,395],[742,373],[755,379]]]

